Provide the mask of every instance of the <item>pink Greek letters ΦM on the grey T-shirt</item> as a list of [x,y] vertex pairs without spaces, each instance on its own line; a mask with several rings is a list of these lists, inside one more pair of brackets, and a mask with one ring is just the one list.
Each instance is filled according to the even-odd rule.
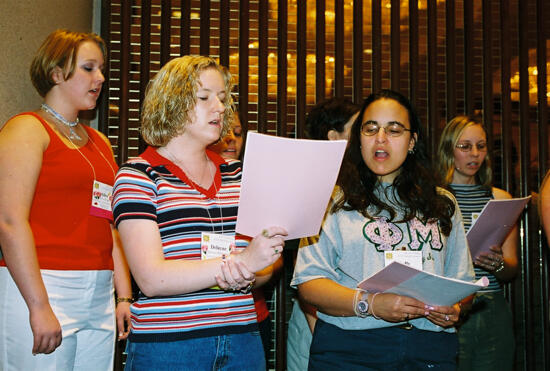
[[418,218],[409,220],[407,230],[402,231],[399,225],[388,221],[386,217],[369,220],[363,226],[363,236],[372,243],[379,252],[395,250],[400,246],[405,233],[408,235],[408,249],[421,251],[425,245],[431,250],[441,251],[443,241],[437,222],[423,223]]

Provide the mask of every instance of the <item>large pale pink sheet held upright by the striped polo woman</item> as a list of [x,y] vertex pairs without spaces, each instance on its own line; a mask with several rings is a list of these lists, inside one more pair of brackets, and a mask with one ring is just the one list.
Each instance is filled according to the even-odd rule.
[[288,240],[318,234],[346,144],[248,133],[236,231],[256,236],[280,226]]

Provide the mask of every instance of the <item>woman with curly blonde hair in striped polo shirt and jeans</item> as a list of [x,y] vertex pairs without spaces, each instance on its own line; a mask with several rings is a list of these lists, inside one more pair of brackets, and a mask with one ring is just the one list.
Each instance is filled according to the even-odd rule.
[[286,231],[235,233],[241,162],[207,149],[229,130],[231,88],[203,56],[171,60],[147,87],[149,147],[120,168],[113,200],[140,289],[129,370],[265,369],[250,289],[269,279]]

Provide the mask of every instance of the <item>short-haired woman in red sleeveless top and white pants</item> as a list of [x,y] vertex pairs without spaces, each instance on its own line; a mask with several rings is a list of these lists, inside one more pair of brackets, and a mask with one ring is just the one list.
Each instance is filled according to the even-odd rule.
[[117,165],[108,139],[78,121],[96,106],[106,50],[57,30],[36,53],[40,109],[0,131],[0,369],[112,370],[115,299],[127,336],[128,268],[112,227]]

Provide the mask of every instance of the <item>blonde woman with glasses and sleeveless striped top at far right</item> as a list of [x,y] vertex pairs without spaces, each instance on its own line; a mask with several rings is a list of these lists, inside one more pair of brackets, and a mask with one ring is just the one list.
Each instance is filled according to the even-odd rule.
[[[443,130],[438,150],[438,172],[458,201],[466,232],[491,199],[512,196],[492,186],[487,133],[473,117],[457,116]],[[474,259],[476,279],[486,276],[489,286],[478,291],[471,310],[460,325],[460,370],[511,370],[514,361],[513,319],[502,283],[518,268],[518,230],[502,246]]]

